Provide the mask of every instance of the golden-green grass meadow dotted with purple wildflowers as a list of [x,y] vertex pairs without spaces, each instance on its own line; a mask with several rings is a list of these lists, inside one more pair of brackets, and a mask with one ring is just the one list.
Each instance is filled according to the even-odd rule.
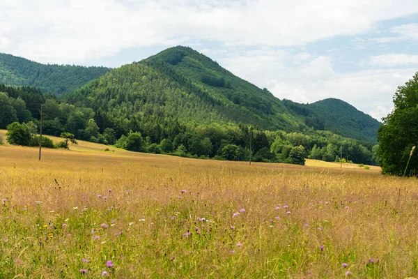
[[0,146],[0,278],[418,276],[417,179],[104,148]]

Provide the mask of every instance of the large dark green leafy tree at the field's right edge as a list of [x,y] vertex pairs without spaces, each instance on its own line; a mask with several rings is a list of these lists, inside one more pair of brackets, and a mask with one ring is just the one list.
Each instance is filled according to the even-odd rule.
[[394,110],[383,119],[378,141],[384,174],[417,175],[418,153],[411,150],[418,144],[418,73],[405,85],[398,86]]

